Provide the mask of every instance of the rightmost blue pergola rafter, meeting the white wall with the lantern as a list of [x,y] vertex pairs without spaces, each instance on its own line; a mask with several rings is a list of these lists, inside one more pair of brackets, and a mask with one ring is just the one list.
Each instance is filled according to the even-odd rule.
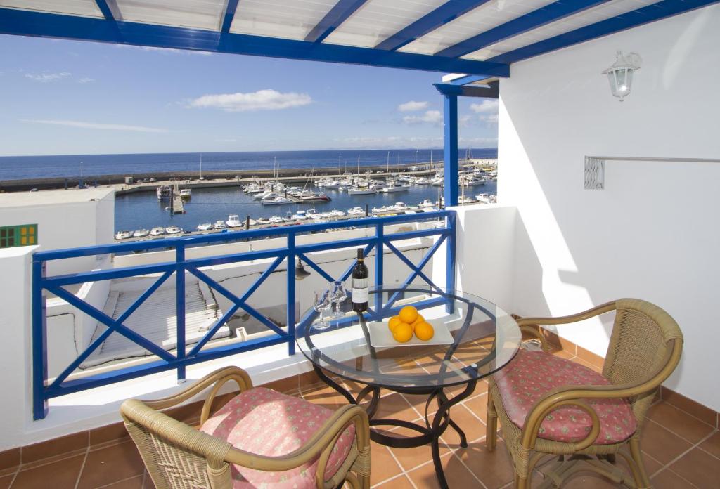
[[565,32],[564,34],[550,37],[549,39],[535,42],[534,44],[519,47],[516,50],[504,52],[488,61],[495,63],[515,63],[516,61],[532,58],[563,47],[572,46],[597,37],[614,34],[642,24],[648,24],[656,20],[672,17],[673,15],[690,12],[703,6],[716,4],[720,0],[662,0],[657,4],[644,6],[625,14],[611,17],[595,24],[590,24],[579,29]]

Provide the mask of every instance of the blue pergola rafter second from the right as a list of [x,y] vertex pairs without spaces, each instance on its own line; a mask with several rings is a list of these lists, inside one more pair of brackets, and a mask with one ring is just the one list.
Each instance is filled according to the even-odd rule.
[[541,27],[550,22],[562,19],[577,12],[590,9],[593,6],[606,3],[608,0],[575,0],[569,2],[567,0],[559,0],[552,4],[546,5],[541,9],[534,10],[529,14],[525,14],[517,19],[505,22],[505,24],[494,27],[485,32],[481,32],[477,36],[470,37],[456,45],[446,47],[444,50],[435,54],[438,56],[447,56],[448,58],[459,58],[477,51],[483,47],[495,44],[510,37],[528,32],[537,27]]

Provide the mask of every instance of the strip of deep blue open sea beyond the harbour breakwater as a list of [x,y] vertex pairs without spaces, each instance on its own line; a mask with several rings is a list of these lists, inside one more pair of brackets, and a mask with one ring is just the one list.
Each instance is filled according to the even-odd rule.
[[[417,155],[416,155],[417,152]],[[497,148],[472,148],[459,151],[474,158],[496,158]],[[0,180],[30,180],[32,178],[91,178],[102,175],[128,175],[178,172],[233,170],[271,170],[276,161],[281,169],[338,168],[352,171],[360,166],[390,167],[442,160],[442,148],[427,150],[304,150],[304,151],[240,151],[240,152],[180,152],[127,153],[113,155],[44,155],[1,156]]]

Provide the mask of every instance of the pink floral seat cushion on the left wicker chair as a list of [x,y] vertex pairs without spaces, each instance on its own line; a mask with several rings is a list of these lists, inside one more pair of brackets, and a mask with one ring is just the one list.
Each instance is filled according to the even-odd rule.
[[[302,447],[333,411],[299,398],[262,387],[246,390],[231,399],[200,427],[227,440],[233,447],[268,457],[279,457]],[[349,425],[338,438],[325,468],[325,480],[341,467],[355,439]],[[233,488],[315,488],[318,459],[284,472],[264,472],[233,465]]]

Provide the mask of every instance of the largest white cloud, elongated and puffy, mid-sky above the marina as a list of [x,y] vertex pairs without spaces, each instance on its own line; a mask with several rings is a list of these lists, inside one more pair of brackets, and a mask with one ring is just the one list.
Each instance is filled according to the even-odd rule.
[[280,93],[266,88],[250,93],[220,93],[203,95],[199,99],[188,101],[188,107],[205,109],[212,107],[226,112],[246,112],[258,110],[280,110],[300,107],[312,103],[307,93]]

